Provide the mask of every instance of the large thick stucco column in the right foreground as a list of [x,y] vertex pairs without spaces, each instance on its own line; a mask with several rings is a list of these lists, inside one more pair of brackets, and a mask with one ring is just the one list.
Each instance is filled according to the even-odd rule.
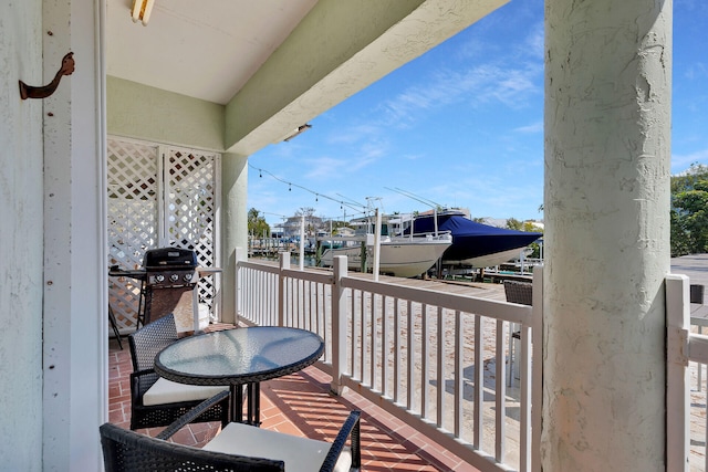
[[545,13],[543,470],[664,470],[671,1]]

